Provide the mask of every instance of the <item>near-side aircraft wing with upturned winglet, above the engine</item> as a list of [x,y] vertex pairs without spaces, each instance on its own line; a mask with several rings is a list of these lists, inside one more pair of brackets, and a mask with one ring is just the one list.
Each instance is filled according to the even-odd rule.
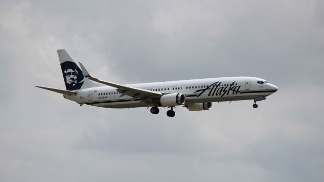
[[94,78],[90,76],[89,72],[86,70],[86,68],[83,66],[82,63],[80,63],[80,67],[84,73],[84,76],[86,78],[89,78],[90,80],[96,81],[98,83],[102,83],[108,86],[116,87],[118,88],[117,91],[121,93],[120,97],[123,97],[125,95],[133,97],[135,99],[143,99],[143,98],[160,98],[162,96],[162,93],[160,92],[154,92],[151,90],[146,90],[142,88],[136,88],[136,87],[131,87],[131,86],[126,86],[118,83],[113,83],[113,82],[108,82],[108,81],[103,81],[99,80],[98,78]]

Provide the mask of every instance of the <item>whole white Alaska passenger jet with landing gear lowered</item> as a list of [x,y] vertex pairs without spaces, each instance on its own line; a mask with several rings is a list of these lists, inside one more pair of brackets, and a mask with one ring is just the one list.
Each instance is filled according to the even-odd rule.
[[176,106],[184,106],[189,111],[209,110],[213,102],[265,100],[278,87],[257,77],[221,77],[164,81],[138,84],[118,84],[92,77],[82,63],[79,66],[65,50],[57,50],[61,64],[65,89],[44,86],[39,88],[63,94],[80,106],[104,108],[151,107],[152,114],[158,114],[158,107],[167,107],[167,116],[174,117]]

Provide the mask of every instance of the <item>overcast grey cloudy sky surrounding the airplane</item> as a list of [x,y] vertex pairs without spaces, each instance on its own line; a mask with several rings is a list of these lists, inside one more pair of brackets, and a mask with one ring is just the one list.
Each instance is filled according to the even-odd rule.
[[[323,1],[1,1],[0,181],[324,181]],[[256,76],[252,101],[78,106],[57,49],[119,83]]]

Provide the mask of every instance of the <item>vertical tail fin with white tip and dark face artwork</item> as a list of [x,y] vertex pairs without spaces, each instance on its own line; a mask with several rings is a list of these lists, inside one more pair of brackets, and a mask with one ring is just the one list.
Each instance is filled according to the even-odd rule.
[[65,50],[57,50],[65,87],[67,90],[77,90],[83,85],[84,75]]

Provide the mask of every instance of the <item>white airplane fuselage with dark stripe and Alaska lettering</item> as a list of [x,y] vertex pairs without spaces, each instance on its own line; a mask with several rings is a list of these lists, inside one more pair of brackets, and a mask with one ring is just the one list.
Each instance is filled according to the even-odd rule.
[[[264,100],[278,89],[262,78],[256,77],[222,77],[164,81],[152,83],[128,84],[137,87],[166,93],[185,95],[185,104],[204,102],[224,102],[237,100]],[[77,102],[106,108],[134,108],[154,106],[141,99],[123,96],[115,87],[100,86],[79,90],[76,95],[64,95],[64,98]]]

